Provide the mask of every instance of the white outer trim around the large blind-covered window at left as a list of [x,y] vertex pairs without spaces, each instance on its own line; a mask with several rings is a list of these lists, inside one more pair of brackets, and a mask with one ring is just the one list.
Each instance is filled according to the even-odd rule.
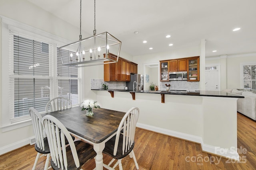
[[[10,100],[9,100],[9,81],[10,81],[10,77],[8,74],[8,70],[9,70],[9,58],[11,57],[10,53],[9,53],[9,46],[10,46],[10,30],[12,32],[18,32],[19,35],[23,36],[23,37],[28,37],[30,39],[35,39],[38,41],[42,41],[42,42],[48,42],[52,44],[52,55],[56,55],[56,47],[57,44],[58,46],[62,46],[65,44],[69,44],[71,43],[71,41],[68,41],[66,39],[63,39],[61,37],[58,37],[56,35],[52,35],[51,33],[47,33],[45,31],[42,31],[40,29],[31,27],[29,25],[26,25],[24,23],[20,23],[18,21],[6,18],[4,16],[0,16],[0,21],[2,21],[0,23],[0,30],[1,32],[1,36],[2,36],[2,54],[1,54],[1,59],[2,59],[2,66],[1,66],[1,76],[2,76],[2,84],[1,84],[1,90],[2,90],[2,125],[1,125],[1,129],[2,132],[6,132],[6,131],[10,131],[13,129],[18,129],[20,127],[25,127],[28,125],[32,125],[30,116],[23,116],[23,117],[19,117],[19,118],[15,118],[15,120],[11,120],[10,119]],[[8,42],[8,43],[7,43]],[[51,61],[50,61],[51,62]],[[52,64],[56,65],[57,63],[57,59],[56,61],[52,61]],[[54,70],[52,70],[52,74],[56,73],[57,68],[54,68]],[[81,72],[81,69],[79,68],[79,71]],[[78,76],[80,75],[81,77],[78,78],[78,100],[79,102],[81,102],[81,94],[82,92],[80,91],[81,88],[80,86],[82,85],[82,72],[80,74],[78,74]],[[57,78],[57,79],[64,79],[64,78]],[[70,78],[72,79],[72,78]],[[74,78],[75,79],[75,78]],[[53,84],[51,84],[53,85]],[[7,107],[6,107],[7,106]],[[76,105],[75,105],[76,106]]]

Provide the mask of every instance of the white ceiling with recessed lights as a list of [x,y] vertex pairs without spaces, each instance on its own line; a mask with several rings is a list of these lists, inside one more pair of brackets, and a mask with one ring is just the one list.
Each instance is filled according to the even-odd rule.
[[[28,1],[80,27],[80,0]],[[202,39],[206,57],[252,53],[255,7],[256,0],[96,0],[96,30],[114,35],[132,56],[200,45]],[[232,31],[236,27],[241,29]],[[93,35],[93,0],[82,0],[82,30]]]

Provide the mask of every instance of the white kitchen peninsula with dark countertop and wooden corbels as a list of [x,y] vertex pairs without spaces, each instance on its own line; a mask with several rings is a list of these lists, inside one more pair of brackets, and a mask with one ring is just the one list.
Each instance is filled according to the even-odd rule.
[[236,101],[243,96],[197,90],[91,90],[101,107],[124,112],[138,107],[137,127],[200,143],[205,152],[239,159]]

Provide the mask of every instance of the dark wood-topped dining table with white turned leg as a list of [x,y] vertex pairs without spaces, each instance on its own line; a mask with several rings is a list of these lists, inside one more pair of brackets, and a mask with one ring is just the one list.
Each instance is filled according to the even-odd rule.
[[68,109],[44,113],[56,117],[70,132],[93,145],[95,152],[96,170],[103,170],[102,150],[105,143],[116,135],[116,131],[125,112],[104,108],[93,109],[93,116],[86,116],[86,110],[76,106]]

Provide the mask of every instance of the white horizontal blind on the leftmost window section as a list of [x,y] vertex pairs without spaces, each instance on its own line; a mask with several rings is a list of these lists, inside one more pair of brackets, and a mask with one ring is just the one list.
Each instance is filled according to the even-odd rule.
[[[49,57],[51,45],[11,33],[13,62],[10,67],[10,118],[29,115],[28,108],[42,112],[50,100]],[[13,67],[12,67],[13,66]],[[13,72],[13,74],[12,74]]]

